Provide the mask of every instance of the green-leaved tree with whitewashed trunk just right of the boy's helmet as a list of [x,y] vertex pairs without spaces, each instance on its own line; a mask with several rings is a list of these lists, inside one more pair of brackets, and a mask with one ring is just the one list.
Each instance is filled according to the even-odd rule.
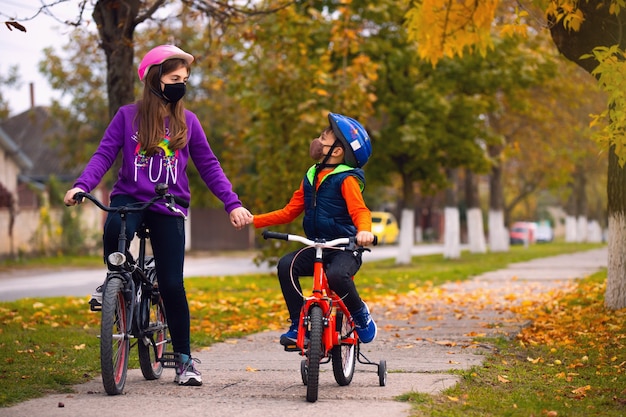
[[[363,50],[379,64],[376,112],[368,122],[375,146],[370,172],[377,181],[399,179],[402,233],[396,262],[409,263],[418,193],[445,189],[451,184],[447,172],[460,166],[486,169],[476,141],[482,98],[460,88],[467,68],[450,62],[433,71],[417,56],[403,27],[402,3],[352,2],[351,7],[368,22]],[[458,242],[454,251],[460,252]]]

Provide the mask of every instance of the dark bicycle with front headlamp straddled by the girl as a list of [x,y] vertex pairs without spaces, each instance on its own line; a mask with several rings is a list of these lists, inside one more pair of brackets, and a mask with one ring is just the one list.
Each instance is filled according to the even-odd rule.
[[[163,300],[159,293],[154,258],[146,256],[150,232],[142,224],[137,230],[139,253],[136,258],[127,249],[126,222],[129,213],[141,213],[153,204],[162,203],[174,213],[185,217],[176,207],[189,203],[168,193],[166,184],[155,187],[156,196],[147,202],[120,207],[104,205],[88,193],[76,193],[74,200],[92,201],[101,210],[117,213],[121,219],[118,250],[109,255],[109,263],[118,270],[107,272],[102,286],[102,305],[91,304],[93,311],[102,311],[100,325],[100,366],[102,384],[109,395],[121,394],[126,383],[130,349],[137,346],[139,365],[145,379],[161,377],[163,368],[177,365],[176,355],[166,352],[169,338]],[[131,345],[131,340],[133,341]]]

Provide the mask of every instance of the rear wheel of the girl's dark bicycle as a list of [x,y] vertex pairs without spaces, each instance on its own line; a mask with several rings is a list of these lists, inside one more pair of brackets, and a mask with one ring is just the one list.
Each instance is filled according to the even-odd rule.
[[[147,275],[151,282],[156,283],[153,268],[147,271]],[[143,377],[153,380],[160,378],[163,373],[163,363],[159,359],[163,356],[168,342],[167,320],[158,288],[146,288],[142,294],[139,310],[141,315],[139,334],[141,336],[137,343],[137,351]]]

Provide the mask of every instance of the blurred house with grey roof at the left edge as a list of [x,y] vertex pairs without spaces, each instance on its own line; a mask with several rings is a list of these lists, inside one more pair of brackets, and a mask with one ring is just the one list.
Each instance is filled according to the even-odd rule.
[[0,257],[45,253],[54,247],[62,214],[58,208],[50,209],[46,184],[51,176],[69,180],[81,167],[64,167],[63,153],[54,143],[63,127],[45,107],[33,107],[0,121],[0,130],[4,152]]

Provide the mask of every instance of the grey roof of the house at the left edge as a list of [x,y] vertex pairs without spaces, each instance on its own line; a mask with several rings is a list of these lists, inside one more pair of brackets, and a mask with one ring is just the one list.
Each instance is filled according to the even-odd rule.
[[46,182],[52,175],[62,181],[71,181],[80,173],[82,167],[67,168],[69,161],[58,143],[58,138],[63,136],[65,130],[51,116],[48,108],[33,107],[2,120],[0,129],[32,162],[32,166],[22,167],[22,176],[38,182]]

